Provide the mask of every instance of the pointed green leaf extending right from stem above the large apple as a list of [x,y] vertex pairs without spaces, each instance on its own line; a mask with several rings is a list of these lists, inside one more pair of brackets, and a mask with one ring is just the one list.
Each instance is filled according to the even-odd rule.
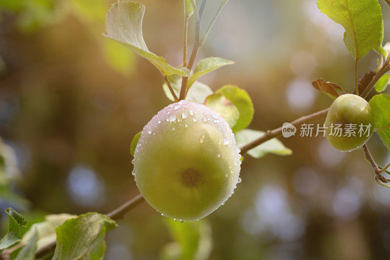
[[194,75],[188,80],[187,89],[191,87],[191,85],[198,80],[201,76],[216,70],[225,65],[234,64],[232,60],[225,60],[218,57],[209,57],[203,60],[200,60],[198,64],[196,64]]

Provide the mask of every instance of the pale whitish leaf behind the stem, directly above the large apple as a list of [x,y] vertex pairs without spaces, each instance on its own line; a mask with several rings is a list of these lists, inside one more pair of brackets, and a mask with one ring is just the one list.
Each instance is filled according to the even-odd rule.
[[[168,80],[171,83],[171,86],[176,94],[176,97],[178,97],[181,88],[181,80],[182,80],[181,77],[178,75],[171,75],[168,76]],[[175,101],[166,83],[162,85],[162,88],[167,98],[169,100]],[[211,94],[213,94],[213,90],[211,90],[211,88],[208,85],[195,81],[192,88],[187,91],[185,100],[203,104],[204,101],[206,100],[206,97],[210,96]]]

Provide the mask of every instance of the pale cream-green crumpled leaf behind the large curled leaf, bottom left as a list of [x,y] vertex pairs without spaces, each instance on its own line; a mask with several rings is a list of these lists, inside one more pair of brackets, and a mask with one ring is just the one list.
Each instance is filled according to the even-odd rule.
[[46,215],[44,221],[34,223],[30,229],[24,234],[21,243],[27,244],[32,239],[35,233],[38,235],[37,246],[44,246],[56,239],[56,228],[62,225],[65,220],[76,218],[76,215],[70,214],[51,214]]

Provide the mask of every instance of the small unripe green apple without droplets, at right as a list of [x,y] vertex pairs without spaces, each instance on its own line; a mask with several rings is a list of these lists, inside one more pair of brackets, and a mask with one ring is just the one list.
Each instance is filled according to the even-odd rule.
[[[341,132],[336,130],[337,125]],[[334,100],[325,120],[329,143],[343,152],[355,150],[365,144],[375,126],[369,102],[353,94],[345,94]],[[354,136],[351,132],[354,132]]]

